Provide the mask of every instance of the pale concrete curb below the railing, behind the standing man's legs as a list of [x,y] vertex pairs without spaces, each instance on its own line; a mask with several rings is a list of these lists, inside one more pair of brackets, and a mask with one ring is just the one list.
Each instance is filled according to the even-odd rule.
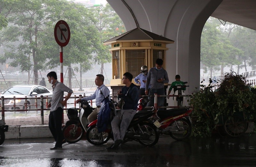
[[[29,139],[52,137],[48,127],[49,115],[44,116],[44,125],[41,124],[41,116],[12,116],[5,117],[6,125],[9,125],[8,132],[5,132],[5,139]],[[64,124],[68,117],[64,114]],[[63,125],[64,125],[63,124]]]

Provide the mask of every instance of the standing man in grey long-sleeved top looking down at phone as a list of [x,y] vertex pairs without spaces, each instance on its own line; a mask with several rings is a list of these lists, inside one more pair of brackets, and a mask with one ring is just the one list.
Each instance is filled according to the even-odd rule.
[[[157,95],[164,95],[164,83],[169,82],[168,74],[163,68],[163,60],[161,58],[156,59],[156,66],[152,67],[148,71],[145,94],[148,97],[148,107],[154,106],[154,97],[150,97],[157,93]],[[150,83],[150,91],[149,91]],[[158,106],[164,106],[164,97],[157,97]]]

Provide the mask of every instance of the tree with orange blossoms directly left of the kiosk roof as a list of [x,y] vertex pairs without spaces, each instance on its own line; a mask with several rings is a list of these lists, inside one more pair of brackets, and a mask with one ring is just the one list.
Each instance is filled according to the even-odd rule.
[[125,28],[122,20],[109,4],[90,10],[93,11],[93,15],[97,20],[94,25],[100,33],[100,41],[96,45],[94,62],[101,64],[100,74],[103,75],[104,64],[111,62],[111,54],[108,50],[110,46],[104,46],[103,42],[125,33]]

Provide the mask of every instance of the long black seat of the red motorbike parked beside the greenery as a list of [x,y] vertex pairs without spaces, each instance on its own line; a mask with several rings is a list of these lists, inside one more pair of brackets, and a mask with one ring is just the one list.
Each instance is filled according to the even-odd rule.
[[158,110],[156,113],[161,119],[166,117],[178,116],[187,112],[189,108],[173,108],[169,110]]

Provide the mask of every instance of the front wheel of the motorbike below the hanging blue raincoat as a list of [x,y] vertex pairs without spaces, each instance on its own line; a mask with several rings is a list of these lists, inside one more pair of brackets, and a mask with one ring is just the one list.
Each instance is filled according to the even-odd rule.
[[102,145],[110,139],[108,132],[98,132],[96,125],[92,125],[86,132],[86,139],[93,145]]

